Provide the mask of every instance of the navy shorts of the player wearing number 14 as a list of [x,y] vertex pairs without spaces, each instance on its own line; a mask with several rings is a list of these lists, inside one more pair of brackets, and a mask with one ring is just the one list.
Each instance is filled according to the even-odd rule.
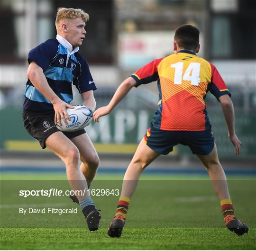
[[168,154],[174,145],[188,145],[193,154],[208,155],[214,147],[211,128],[205,131],[165,131],[152,125],[144,136],[146,144],[155,152]]

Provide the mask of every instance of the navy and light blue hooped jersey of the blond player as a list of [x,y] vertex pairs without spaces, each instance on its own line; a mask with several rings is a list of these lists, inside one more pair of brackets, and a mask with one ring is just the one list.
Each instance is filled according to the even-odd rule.
[[[73,100],[72,83],[79,93],[96,90],[88,63],[77,50],[69,51],[56,38],[51,38],[28,53],[28,63],[34,61],[43,69],[51,89],[68,104]],[[53,110],[53,105],[28,80],[23,109]]]

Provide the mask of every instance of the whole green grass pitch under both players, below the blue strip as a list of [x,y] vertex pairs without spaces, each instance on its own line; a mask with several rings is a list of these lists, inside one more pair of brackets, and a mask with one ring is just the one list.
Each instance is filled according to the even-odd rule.
[[[1,174],[1,250],[254,250],[256,249],[256,181],[232,177],[229,190],[235,213],[249,226],[239,237],[223,223],[218,198],[206,177],[145,176],[132,198],[120,238],[109,238],[107,226],[118,197],[92,197],[102,210],[101,228],[90,233],[79,206],[67,197],[18,197],[19,189],[44,184],[65,188],[64,174]],[[5,179],[16,179],[5,180]],[[18,180],[20,179],[20,180]],[[22,181],[22,179],[31,179]],[[58,180],[59,179],[59,180]],[[122,177],[98,176],[92,188],[121,188]],[[153,180],[158,179],[158,180]],[[162,179],[162,180],[159,180]],[[207,178],[208,179],[208,178]],[[20,215],[19,205],[77,207],[77,215]],[[25,226],[25,227],[24,227]]]

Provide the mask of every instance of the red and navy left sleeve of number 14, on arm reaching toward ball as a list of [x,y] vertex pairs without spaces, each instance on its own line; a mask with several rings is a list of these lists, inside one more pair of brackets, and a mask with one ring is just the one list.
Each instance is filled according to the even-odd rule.
[[162,61],[161,59],[155,59],[152,62],[141,67],[137,72],[133,73],[131,77],[136,81],[136,87],[141,84],[147,84],[158,79],[158,64]]

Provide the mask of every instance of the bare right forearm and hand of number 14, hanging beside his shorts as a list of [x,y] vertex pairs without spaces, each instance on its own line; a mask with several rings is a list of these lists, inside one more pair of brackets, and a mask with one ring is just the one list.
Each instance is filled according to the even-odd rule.
[[242,143],[240,142],[238,136],[235,133],[235,112],[232,100],[229,98],[229,95],[223,95],[219,97],[219,102],[221,104],[221,108],[227,124],[229,139],[235,147],[236,155],[238,155]]

